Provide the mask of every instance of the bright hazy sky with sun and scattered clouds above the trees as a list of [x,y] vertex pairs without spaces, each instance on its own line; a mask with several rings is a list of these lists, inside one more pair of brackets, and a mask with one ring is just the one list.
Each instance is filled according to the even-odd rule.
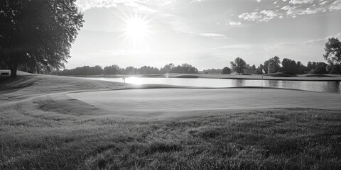
[[341,0],[77,0],[84,26],[67,69],[163,67],[199,70],[270,57],[323,62],[328,38],[341,38]]

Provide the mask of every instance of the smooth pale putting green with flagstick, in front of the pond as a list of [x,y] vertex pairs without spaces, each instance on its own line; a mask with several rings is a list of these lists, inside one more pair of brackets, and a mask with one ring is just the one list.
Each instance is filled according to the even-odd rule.
[[340,94],[284,89],[128,89],[67,94],[115,112],[210,111],[235,108],[341,109]]

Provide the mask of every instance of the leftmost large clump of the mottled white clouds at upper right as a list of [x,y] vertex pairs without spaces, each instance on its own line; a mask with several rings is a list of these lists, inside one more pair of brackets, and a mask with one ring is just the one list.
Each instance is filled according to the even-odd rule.
[[238,17],[243,18],[246,21],[270,21],[271,19],[278,16],[275,11],[260,11],[260,12],[252,12],[252,13],[242,13]]

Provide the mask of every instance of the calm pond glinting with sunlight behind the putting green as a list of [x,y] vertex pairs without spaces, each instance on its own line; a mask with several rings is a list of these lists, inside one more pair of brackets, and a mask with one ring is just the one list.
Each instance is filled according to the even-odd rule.
[[[124,82],[122,78],[84,78],[102,81]],[[236,87],[236,86],[266,86],[284,89],[301,89],[305,91],[320,91],[325,93],[341,93],[340,81],[284,81],[284,80],[250,80],[250,79],[188,79],[188,78],[148,78],[126,77],[130,84],[167,84],[195,87]]]

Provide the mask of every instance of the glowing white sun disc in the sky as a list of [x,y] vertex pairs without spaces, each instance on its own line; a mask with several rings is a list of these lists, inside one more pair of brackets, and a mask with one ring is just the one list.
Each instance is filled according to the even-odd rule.
[[148,21],[144,18],[135,16],[125,21],[125,35],[132,40],[144,40],[148,36]]

